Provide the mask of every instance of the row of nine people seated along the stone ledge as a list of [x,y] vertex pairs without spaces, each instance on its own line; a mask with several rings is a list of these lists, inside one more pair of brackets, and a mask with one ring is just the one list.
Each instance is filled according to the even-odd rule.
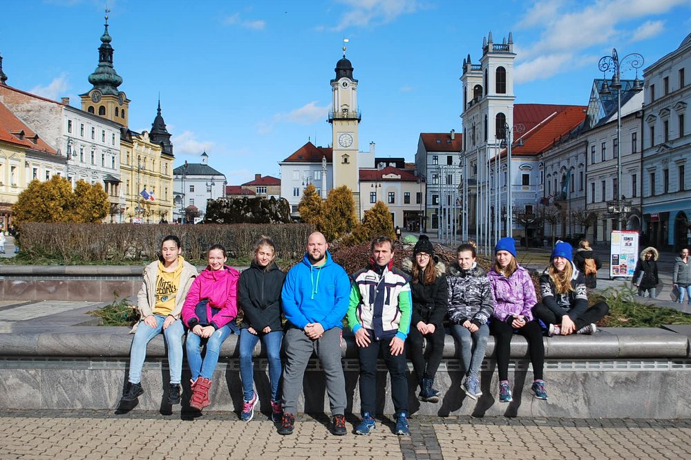
[[[511,238],[498,241],[489,272],[477,263],[475,246],[457,248],[448,269],[435,256],[432,243],[421,235],[401,268],[394,266],[395,245],[389,237],[370,243],[368,266],[348,276],[335,263],[323,234],[314,232],[300,263],[284,274],[274,259],[276,246],[261,237],[247,270],[227,266],[220,244],[209,248],[207,268],[198,273],[181,255],[178,237],[161,244],[160,260],[144,268],[138,294],[141,319],[135,325],[129,379],[121,404],[144,393],[141,384],[146,345],[164,334],[170,385],[168,401],[180,403],[182,337],[191,372],[189,406],[209,406],[209,390],[223,341],[239,334],[243,408],[240,419],[252,420],[259,396],[254,390],[253,352],[258,341],[268,358],[271,417],[279,434],[294,430],[297,401],[312,354],[325,373],[333,434],[346,434],[345,377],[342,366],[343,319],[354,334],[359,354],[361,421],[356,434],[375,430],[377,360],[386,363],[395,408],[395,433],[408,434],[408,364],[413,361],[419,399],[439,402],[435,374],[444,350],[444,319],[458,341],[464,372],[462,390],[471,399],[482,396],[479,371],[489,334],[495,337],[499,401],[512,401],[508,380],[513,334],[529,345],[534,381],[531,391],[547,400],[542,368],[543,335],[593,334],[607,304],[589,306],[584,274],[572,261],[569,243],[558,242],[540,275],[538,303],[533,280],[516,261]],[[238,321],[238,311],[243,313]],[[285,317],[285,321],[283,318]],[[424,345],[426,343],[426,345]],[[281,361],[281,347],[285,366]],[[205,350],[202,355],[202,348]]]

